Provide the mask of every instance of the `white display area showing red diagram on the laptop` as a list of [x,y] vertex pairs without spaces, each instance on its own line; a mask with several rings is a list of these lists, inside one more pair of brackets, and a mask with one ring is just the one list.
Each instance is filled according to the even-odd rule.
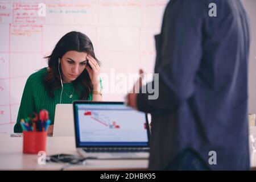
[[147,142],[146,118],[134,110],[78,111],[81,142]]

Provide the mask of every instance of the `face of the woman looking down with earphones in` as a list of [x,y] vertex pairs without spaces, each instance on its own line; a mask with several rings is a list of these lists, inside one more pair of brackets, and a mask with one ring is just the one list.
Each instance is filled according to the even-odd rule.
[[87,63],[87,53],[68,51],[60,59],[60,66],[63,73],[63,82],[69,83],[76,80],[84,71]]

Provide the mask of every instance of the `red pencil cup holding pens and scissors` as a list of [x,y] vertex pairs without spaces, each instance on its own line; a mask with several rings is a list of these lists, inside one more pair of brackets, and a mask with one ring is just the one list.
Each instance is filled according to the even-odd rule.
[[23,131],[23,153],[38,154],[46,152],[47,131]]

